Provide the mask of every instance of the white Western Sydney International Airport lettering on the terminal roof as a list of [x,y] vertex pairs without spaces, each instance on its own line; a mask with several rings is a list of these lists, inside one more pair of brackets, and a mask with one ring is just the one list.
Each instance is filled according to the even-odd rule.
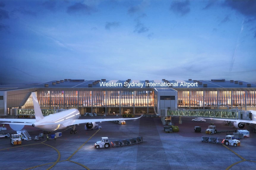
[[[100,87],[140,87],[142,88],[144,83],[137,83],[137,82],[124,82],[124,83],[116,83],[116,82],[99,82]],[[198,82],[193,82],[193,83],[187,83],[187,82],[175,82],[175,83],[170,83],[170,82],[159,82],[159,83],[154,83],[154,82],[146,82],[145,83],[146,87],[197,87]]]

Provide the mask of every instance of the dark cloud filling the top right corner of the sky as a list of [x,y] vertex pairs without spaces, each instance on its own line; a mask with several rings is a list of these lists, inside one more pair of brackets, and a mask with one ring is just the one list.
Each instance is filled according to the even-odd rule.
[[230,1],[226,0],[224,5],[234,9],[244,16],[256,17],[256,1],[255,0],[243,0],[243,1]]

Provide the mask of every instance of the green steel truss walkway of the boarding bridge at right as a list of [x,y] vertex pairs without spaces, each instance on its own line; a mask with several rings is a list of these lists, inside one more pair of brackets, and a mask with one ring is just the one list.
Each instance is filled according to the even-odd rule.
[[216,118],[238,118],[238,109],[232,110],[211,110],[211,109],[196,109],[196,110],[167,110],[167,116],[193,116],[193,117],[216,117]]

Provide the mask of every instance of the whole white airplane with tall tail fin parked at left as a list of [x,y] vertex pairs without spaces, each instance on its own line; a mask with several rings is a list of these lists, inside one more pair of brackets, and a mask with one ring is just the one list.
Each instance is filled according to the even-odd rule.
[[75,125],[79,125],[82,123],[86,123],[86,127],[88,129],[92,129],[95,127],[95,122],[107,122],[107,121],[115,121],[115,120],[131,120],[131,119],[139,119],[137,118],[116,118],[116,119],[78,119],[80,117],[80,113],[78,109],[68,109],[65,111],[61,111],[55,114],[50,114],[48,116],[43,116],[42,111],[40,109],[39,103],[37,101],[37,97],[35,92],[32,92],[34,111],[36,119],[0,119],[0,121],[4,121],[1,124],[9,124],[10,127],[15,130],[21,130],[25,125],[33,126],[37,129],[51,132],[57,129],[65,129],[67,127],[73,126],[73,130],[70,133],[76,133]]

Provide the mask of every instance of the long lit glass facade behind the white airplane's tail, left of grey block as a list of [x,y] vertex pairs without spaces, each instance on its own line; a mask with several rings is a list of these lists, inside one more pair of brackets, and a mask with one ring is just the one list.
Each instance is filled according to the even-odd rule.
[[38,91],[40,106],[154,106],[154,91]]

